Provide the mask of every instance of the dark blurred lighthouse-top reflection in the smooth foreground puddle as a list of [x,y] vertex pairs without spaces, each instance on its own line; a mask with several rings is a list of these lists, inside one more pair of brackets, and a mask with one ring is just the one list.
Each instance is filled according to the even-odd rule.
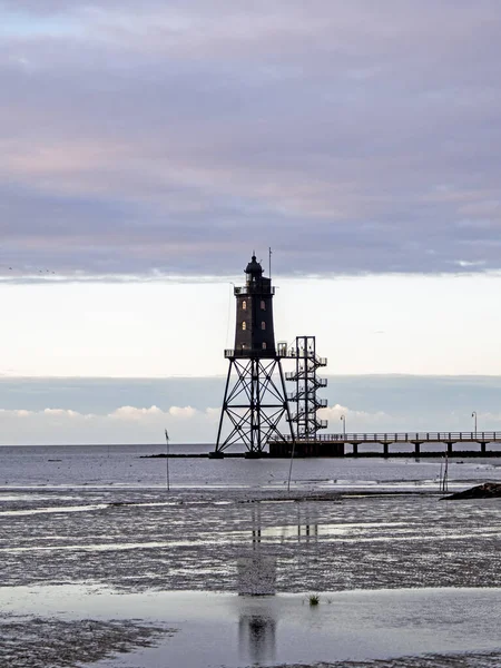
[[262,664],[275,658],[276,620],[266,613],[244,613],[238,621],[240,658]]

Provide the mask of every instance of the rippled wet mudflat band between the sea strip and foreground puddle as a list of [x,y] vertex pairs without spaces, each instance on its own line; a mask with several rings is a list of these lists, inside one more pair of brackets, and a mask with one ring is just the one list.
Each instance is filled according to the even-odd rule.
[[237,558],[256,549],[276,557],[282,592],[501,586],[501,499],[81,488],[10,498],[3,586],[235,591]]

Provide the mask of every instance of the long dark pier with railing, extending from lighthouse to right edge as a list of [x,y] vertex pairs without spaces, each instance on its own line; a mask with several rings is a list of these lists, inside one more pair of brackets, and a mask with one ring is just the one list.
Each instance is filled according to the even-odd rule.
[[[426,451],[428,444],[442,443],[443,451]],[[499,432],[385,432],[385,433],[352,433],[352,434],[317,434],[316,439],[292,439],[284,441],[269,441],[271,456],[291,456],[293,446],[297,456],[501,456],[500,450],[488,450],[489,444],[501,444]],[[381,451],[361,451],[363,445],[381,445]],[[391,449],[392,445],[411,444],[412,450],[402,451]],[[346,446],[350,446],[347,449]],[[464,449],[470,445],[470,449]],[[471,449],[471,445],[478,448]],[[422,448],[423,446],[423,448]]]

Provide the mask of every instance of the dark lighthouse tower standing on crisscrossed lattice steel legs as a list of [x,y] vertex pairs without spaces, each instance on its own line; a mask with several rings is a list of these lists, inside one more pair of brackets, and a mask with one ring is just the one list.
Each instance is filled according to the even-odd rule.
[[247,456],[258,458],[268,440],[294,440],[282,370],[282,358],[287,356],[287,350],[284,344],[275,345],[275,288],[272,279],[263,276],[263,267],[255,255],[245,274],[245,286],[234,288],[235,347],[225,351],[229,367],[216,450],[212,456],[224,456],[227,448],[240,444]]

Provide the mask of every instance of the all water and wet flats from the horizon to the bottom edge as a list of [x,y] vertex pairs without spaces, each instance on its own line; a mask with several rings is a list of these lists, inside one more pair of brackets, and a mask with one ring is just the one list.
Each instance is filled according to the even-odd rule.
[[210,450],[0,446],[0,667],[501,665],[501,459]]

